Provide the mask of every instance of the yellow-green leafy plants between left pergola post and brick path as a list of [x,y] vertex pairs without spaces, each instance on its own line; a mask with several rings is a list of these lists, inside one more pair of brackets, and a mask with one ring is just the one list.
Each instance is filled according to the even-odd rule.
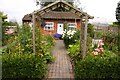
[[52,36],[41,36],[41,41],[42,42],[40,43],[40,45],[38,45],[39,47],[37,48],[37,50],[39,50],[42,54],[38,55],[43,56],[46,59],[47,63],[52,62],[54,60],[51,53],[51,48],[54,45]]

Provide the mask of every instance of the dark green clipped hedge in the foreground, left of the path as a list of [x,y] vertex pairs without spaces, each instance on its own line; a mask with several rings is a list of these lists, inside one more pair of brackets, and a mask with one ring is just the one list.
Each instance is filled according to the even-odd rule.
[[4,53],[2,57],[2,77],[40,78],[46,73],[46,61],[33,54]]

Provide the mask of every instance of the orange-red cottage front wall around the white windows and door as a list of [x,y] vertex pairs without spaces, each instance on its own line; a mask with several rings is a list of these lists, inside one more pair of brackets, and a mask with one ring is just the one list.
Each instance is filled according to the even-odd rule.
[[45,22],[54,22],[54,30],[44,30],[44,26],[41,26],[40,30],[42,34],[54,35],[57,32],[57,23],[77,23],[77,29],[80,29],[80,20],[44,20]]

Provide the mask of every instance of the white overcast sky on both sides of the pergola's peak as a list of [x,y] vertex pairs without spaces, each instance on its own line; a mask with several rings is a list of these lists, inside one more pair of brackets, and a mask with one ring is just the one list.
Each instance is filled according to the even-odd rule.
[[[83,11],[94,16],[92,22],[110,23],[116,21],[115,10],[120,0],[80,0]],[[21,22],[25,14],[29,14],[36,7],[35,0],[0,0],[0,11],[8,15],[11,20]]]

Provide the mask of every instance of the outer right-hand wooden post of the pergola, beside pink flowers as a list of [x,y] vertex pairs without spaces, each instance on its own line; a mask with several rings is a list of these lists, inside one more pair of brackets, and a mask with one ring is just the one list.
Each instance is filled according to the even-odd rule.
[[86,51],[87,51],[87,26],[88,26],[88,16],[85,16],[83,59],[86,57]]

